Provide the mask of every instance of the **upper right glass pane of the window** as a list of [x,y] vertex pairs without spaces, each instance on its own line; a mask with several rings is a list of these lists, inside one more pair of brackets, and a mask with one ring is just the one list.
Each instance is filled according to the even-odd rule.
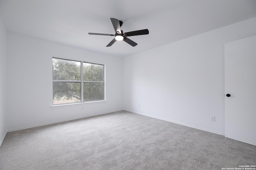
[[84,63],[84,81],[103,82],[103,70],[103,65]]

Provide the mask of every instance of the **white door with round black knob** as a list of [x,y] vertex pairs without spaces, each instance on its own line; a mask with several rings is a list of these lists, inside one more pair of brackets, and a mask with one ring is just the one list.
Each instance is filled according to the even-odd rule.
[[225,137],[256,145],[256,36],[225,44]]

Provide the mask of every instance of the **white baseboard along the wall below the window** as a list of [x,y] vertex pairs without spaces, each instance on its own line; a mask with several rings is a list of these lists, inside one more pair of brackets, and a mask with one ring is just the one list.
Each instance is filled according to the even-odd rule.
[[19,131],[19,130],[22,130],[22,129],[28,129],[28,128],[39,127],[39,126],[44,126],[44,125],[50,125],[50,124],[60,123],[60,122],[64,122],[64,121],[82,119],[82,118],[85,118],[85,117],[91,117],[91,116],[96,116],[96,115],[103,115],[103,114],[106,114],[106,113],[112,113],[112,112],[115,112],[115,111],[122,111],[122,110],[124,110],[124,109],[108,111],[108,112],[102,112],[102,113],[97,113],[97,114],[92,114],[92,115],[86,115],[86,116],[82,116],[82,117],[76,117],[76,118],[72,118],[72,119],[65,119],[65,120],[61,120],[61,121],[53,121],[53,122],[50,122],[50,123],[42,123],[42,124],[39,124],[39,125],[27,126],[27,127],[17,128],[17,129],[10,129],[7,132]]

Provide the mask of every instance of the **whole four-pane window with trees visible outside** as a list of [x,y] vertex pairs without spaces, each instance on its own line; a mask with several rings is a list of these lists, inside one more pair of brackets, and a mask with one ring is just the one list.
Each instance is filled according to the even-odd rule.
[[104,100],[104,65],[52,58],[53,104]]

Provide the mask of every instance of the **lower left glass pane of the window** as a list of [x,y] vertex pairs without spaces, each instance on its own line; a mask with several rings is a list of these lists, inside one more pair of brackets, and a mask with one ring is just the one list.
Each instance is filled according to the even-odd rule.
[[80,82],[53,82],[53,104],[81,102]]

